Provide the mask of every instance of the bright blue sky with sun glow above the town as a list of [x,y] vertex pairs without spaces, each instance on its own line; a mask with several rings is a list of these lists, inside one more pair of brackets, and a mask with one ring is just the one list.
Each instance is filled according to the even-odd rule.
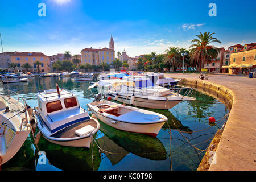
[[[38,16],[38,4],[46,16]],[[217,16],[210,17],[209,3]],[[245,4],[243,4],[245,3]],[[215,32],[221,44],[256,42],[256,1],[158,0],[0,0],[0,33],[3,51],[35,51],[46,55],[85,47],[109,47],[129,56],[163,53],[170,46],[189,48],[200,32]],[[2,50],[1,50],[2,51]]]

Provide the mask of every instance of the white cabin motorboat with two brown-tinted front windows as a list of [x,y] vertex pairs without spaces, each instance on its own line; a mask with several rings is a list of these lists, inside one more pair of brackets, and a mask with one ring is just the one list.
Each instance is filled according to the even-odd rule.
[[35,118],[46,140],[63,146],[90,147],[100,123],[80,107],[72,92],[56,84],[56,89],[39,91],[37,98]]

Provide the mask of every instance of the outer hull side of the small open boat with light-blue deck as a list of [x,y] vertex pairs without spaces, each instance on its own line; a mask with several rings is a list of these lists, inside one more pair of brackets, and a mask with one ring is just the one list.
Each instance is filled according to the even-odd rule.
[[[158,123],[145,123],[145,124],[122,122],[113,118],[105,117],[97,110],[94,110],[93,106],[91,106],[90,104],[88,104],[87,106],[90,108],[92,113],[96,115],[98,119],[100,119],[100,121],[118,130],[129,131],[133,133],[142,133],[142,134],[151,135],[152,137],[156,137],[156,135],[158,135],[160,129],[165,123],[165,121],[158,122]],[[116,123],[114,123],[113,121],[115,121]]]

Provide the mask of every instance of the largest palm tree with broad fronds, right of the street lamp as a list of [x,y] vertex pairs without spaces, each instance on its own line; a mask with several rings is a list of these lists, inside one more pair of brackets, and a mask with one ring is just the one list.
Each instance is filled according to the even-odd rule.
[[192,48],[189,57],[191,58],[191,63],[199,67],[199,71],[201,71],[202,66],[205,63],[210,63],[214,58],[217,57],[219,49],[210,46],[210,43],[218,42],[221,43],[220,40],[213,38],[210,32],[200,32],[200,35],[196,35],[199,39],[191,40],[192,44],[189,48]]

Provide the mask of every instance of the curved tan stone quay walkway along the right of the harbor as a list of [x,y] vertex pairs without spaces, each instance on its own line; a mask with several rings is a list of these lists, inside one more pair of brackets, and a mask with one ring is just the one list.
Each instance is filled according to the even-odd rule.
[[[165,73],[166,77],[198,81],[199,74]],[[209,170],[256,170],[256,78],[208,75],[204,80],[234,93],[233,106],[218,144],[216,164]]]

